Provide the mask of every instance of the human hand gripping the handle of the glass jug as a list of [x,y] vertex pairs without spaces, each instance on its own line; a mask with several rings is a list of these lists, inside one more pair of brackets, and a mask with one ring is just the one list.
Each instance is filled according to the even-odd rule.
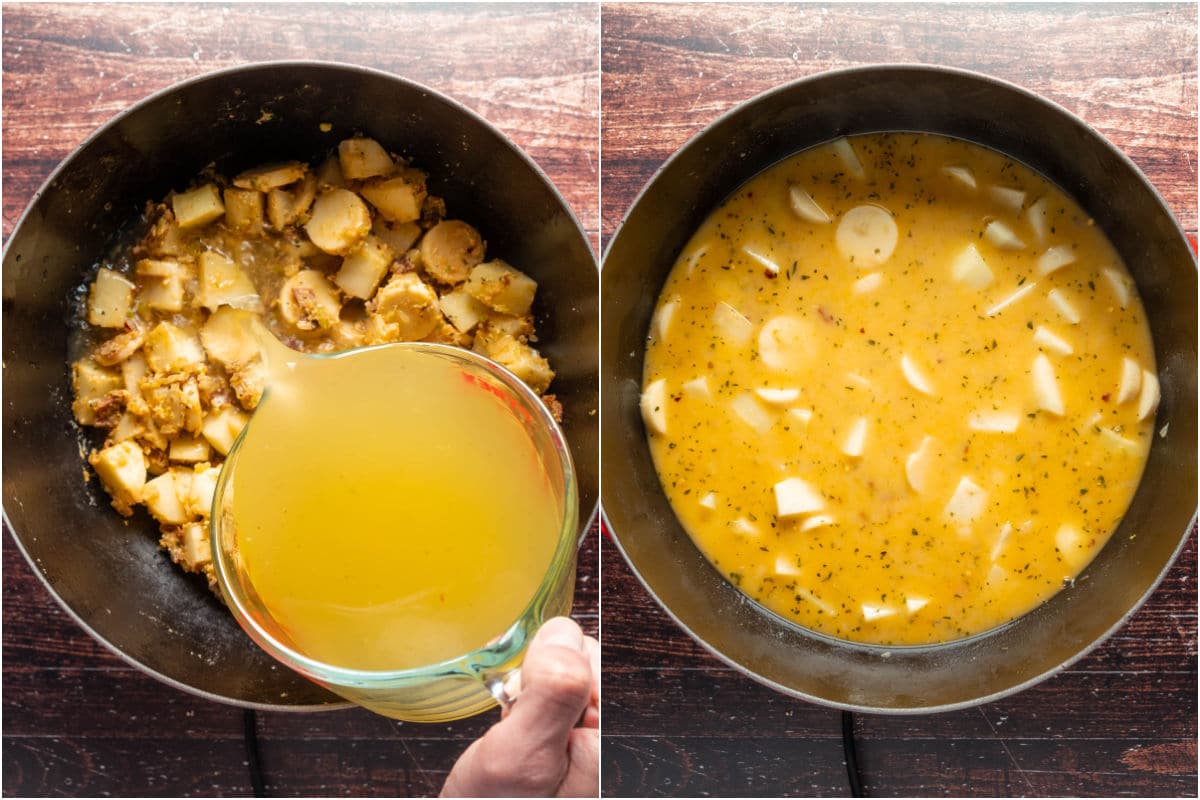
[[442,796],[594,798],[600,643],[556,616],[529,643],[521,694],[450,770]]

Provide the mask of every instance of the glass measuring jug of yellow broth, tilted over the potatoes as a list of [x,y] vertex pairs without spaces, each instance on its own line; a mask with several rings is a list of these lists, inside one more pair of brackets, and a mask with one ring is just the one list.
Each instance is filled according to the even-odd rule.
[[470,351],[311,356],[258,338],[266,391],[212,512],[239,624],[386,716],[448,721],[508,702],[528,640],[572,597],[577,498],[558,426]]

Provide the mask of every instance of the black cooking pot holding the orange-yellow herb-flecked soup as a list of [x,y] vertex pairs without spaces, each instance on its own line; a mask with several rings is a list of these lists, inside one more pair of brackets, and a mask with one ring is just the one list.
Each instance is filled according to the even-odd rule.
[[[655,299],[709,211],[745,180],[839,136],[922,131],[1004,152],[1038,170],[1096,219],[1138,283],[1163,399],[1145,476],[1096,560],[1020,620],[920,648],[850,644],[750,601],[709,565],[659,485],[638,413]],[[1196,267],[1183,233],[1138,168],[1085,122],[979,74],[928,66],[828,72],[761,95],[671,157],[614,234],[601,271],[604,515],[662,608],[722,661],[778,691],[833,706],[943,711],[1019,691],[1099,644],[1170,567],[1196,509]]]

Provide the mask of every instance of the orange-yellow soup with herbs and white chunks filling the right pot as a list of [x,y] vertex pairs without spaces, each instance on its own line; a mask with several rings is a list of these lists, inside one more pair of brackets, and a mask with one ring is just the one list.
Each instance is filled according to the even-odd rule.
[[706,557],[787,620],[925,644],[1052,596],[1123,516],[1158,384],[1133,281],[1004,156],[874,134],[742,186],[659,299],[642,410]]

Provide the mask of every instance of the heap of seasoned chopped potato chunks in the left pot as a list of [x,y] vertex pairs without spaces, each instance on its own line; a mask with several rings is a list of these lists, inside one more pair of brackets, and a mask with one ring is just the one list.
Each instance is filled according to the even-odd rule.
[[486,302],[472,294],[479,233],[445,221],[426,174],[378,142],[203,180],[148,204],[145,234],[91,281],[72,411],[101,431],[89,462],[113,506],[144,506],[160,546],[216,591],[205,521],[266,389],[258,320],[307,353],[425,341],[486,353],[539,393],[554,373],[529,344],[536,284],[493,261],[476,276]]

